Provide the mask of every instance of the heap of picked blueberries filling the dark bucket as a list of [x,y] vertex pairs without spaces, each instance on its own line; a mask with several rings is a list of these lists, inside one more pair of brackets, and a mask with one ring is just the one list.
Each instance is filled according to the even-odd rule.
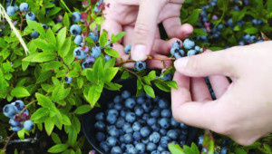
[[96,140],[105,152],[170,154],[168,144],[183,146],[188,126],[172,117],[170,102],[122,91],[95,116]]

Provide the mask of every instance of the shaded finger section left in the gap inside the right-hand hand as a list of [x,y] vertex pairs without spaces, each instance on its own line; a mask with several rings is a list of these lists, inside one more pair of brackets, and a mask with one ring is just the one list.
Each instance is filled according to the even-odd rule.
[[212,101],[204,78],[191,78],[190,82],[193,101]]

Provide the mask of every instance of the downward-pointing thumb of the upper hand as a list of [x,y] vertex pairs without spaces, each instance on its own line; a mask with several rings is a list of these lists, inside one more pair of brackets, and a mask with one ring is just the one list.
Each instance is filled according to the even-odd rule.
[[157,30],[160,10],[167,0],[140,0],[139,14],[134,28],[131,58],[144,61],[151,53],[151,47]]

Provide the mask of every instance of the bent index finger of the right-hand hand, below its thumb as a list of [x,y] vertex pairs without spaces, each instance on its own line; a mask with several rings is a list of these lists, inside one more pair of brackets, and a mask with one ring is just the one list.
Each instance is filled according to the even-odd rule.
[[215,101],[201,103],[191,101],[189,92],[189,77],[176,72],[174,81],[178,83],[179,89],[171,89],[171,108],[175,120],[190,126],[209,129],[215,118]]

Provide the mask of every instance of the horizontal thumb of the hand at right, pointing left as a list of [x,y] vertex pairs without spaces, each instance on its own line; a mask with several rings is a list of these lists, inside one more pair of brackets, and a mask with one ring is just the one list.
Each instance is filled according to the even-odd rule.
[[236,76],[238,62],[235,57],[235,51],[229,48],[224,51],[180,58],[175,62],[175,68],[178,72],[190,77]]

